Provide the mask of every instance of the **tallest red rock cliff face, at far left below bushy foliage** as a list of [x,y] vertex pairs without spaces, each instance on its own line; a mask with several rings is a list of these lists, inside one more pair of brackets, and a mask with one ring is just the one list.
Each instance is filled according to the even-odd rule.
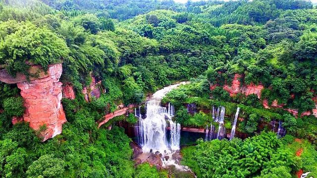
[[[16,83],[21,90],[21,96],[24,99],[25,112],[23,120],[29,122],[30,127],[41,131],[43,141],[60,134],[62,124],[66,122],[66,117],[61,105],[62,83],[59,77],[62,73],[61,63],[49,65],[47,72],[44,72],[39,66],[31,66],[29,73],[37,73],[36,77],[30,77],[17,73],[13,78],[5,70],[0,71],[0,80],[5,83]],[[16,123],[21,119],[13,119]]]

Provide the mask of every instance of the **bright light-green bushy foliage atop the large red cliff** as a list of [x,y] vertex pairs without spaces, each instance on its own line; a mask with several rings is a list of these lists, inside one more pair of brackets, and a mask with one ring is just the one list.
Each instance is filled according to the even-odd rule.
[[65,42],[47,28],[25,23],[16,32],[8,34],[0,43],[0,64],[5,64],[11,75],[27,74],[25,61],[48,69],[50,63],[68,55]]

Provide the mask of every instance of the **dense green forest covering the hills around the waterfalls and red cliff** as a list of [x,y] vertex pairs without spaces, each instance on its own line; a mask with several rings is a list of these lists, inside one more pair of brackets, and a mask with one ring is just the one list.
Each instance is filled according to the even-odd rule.
[[[61,99],[67,122],[45,141],[48,126],[36,130],[25,119],[27,92],[1,82],[0,72],[1,178],[317,178],[317,6],[310,0],[0,0],[0,70],[30,82],[42,75],[30,73],[33,66],[46,75],[59,63],[59,82],[75,97]],[[95,80],[101,94],[87,99],[83,91]],[[179,135],[178,164],[190,174],[136,163],[135,137],[122,125],[135,128],[152,94],[183,81],[158,106],[168,106],[169,134],[175,122],[228,135],[235,122],[236,136],[179,145]],[[261,91],[246,92],[250,86]],[[126,115],[99,125],[121,105]],[[222,122],[217,107],[225,108]]]

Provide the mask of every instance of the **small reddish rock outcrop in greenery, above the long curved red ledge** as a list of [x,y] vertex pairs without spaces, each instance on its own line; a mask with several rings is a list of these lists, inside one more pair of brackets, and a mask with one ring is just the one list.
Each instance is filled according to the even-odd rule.
[[[96,81],[96,78],[91,74],[92,82],[89,86],[84,87],[82,93],[84,94],[84,98],[86,102],[91,102],[93,97],[100,98],[101,96],[101,80]],[[103,90],[105,93],[106,91]]]

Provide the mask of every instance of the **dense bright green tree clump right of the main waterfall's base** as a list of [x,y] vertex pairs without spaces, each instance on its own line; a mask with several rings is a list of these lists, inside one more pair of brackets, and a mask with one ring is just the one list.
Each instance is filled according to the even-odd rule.
[[297,170],[295,156],[271,132],[263,132],[245,141],[201,141],[195,147],[183,149],[182,153],[182,163],[190,166],[198,177],[246,178],[259,173],[261,178],[277,173],[289,177]]

